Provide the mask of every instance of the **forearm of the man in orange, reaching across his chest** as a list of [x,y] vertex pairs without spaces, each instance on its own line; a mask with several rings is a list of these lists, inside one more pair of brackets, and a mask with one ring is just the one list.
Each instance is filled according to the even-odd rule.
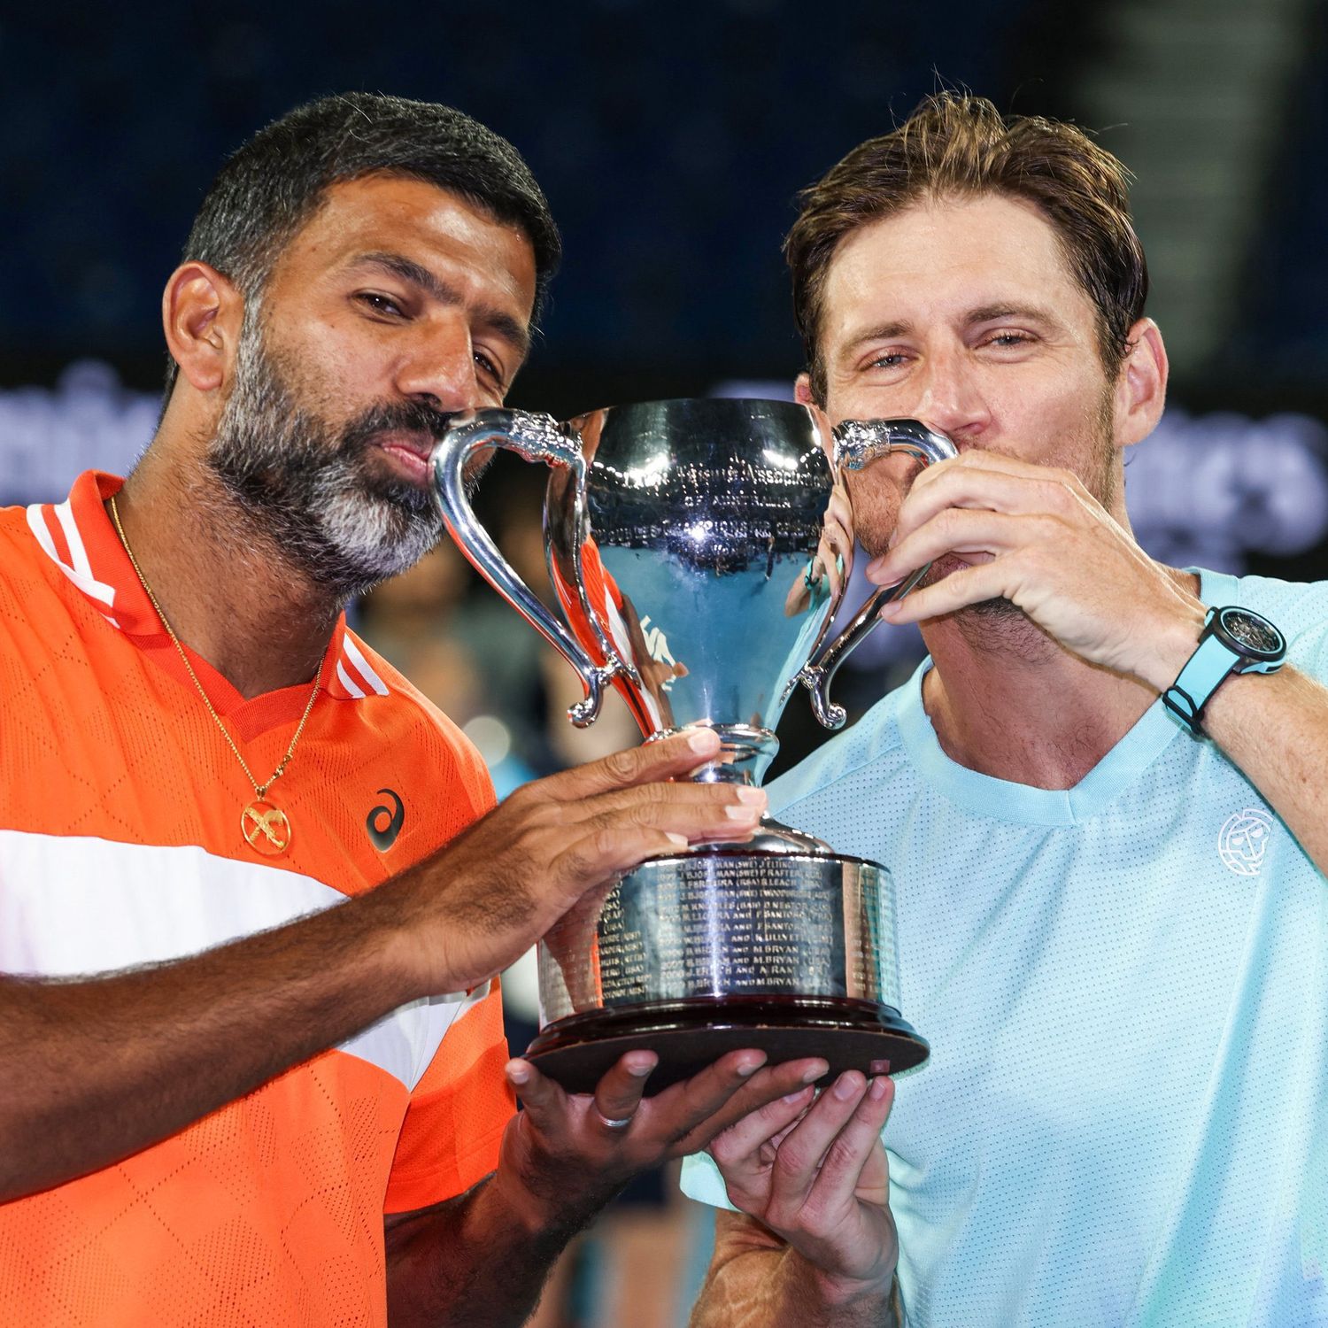
[[418,995],[384,903],[169,964],[0,977],[0,1201],[137,1153]]

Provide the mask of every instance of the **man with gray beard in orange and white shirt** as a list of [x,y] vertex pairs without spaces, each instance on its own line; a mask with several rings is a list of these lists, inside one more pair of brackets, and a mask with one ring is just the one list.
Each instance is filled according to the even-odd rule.
[[483,126],[303,106],[203,201],[133,474],[0,513],[0,1321],[518,1324],[632,1174],[823,1073],[509,1060],[495,975],[764,797],[668,782],[697,733],[493,809],[345,625],[440,538],[434,438],[503,401],[558,255]]

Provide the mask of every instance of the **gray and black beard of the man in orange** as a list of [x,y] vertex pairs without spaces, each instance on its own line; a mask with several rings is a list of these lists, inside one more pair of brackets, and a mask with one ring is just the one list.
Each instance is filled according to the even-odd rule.
[[432,494],[369,463],[374,436],[401,429],[441,437],[448,417],[393,402],[339,434],[299,406],[264,352],[259,321],[256,309],[246,317],[207,465],[278,556],[345,602],[413,567],[442,537]]

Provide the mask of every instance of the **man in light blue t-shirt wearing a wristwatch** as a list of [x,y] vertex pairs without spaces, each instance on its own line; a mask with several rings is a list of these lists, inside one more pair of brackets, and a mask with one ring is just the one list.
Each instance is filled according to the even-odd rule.
[[932,1057],[689,1162],[737,1210],[693,1324],[1328,1324],[1328,586],[1130,534],[1167,363],[1122,167],[943,96],[788,252],[801,400],[960,452],[847,477],[872,580],[932,562],[886,614],[930,656],[772,789],[890,869]]

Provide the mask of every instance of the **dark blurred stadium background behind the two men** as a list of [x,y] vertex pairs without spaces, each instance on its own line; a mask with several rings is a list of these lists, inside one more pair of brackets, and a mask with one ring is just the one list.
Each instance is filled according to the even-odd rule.
[[[1323,0],[31,5],[0,15],[0,501],[131,463],[194,208],[224,155],[300,101],[446,101],[522,150],[567,256],[511,404],[566,417],[788,394],[801,359],[780,244],[797,190],[922,96],[967,86],[1076,120],[1137,175],[1149,312],[1174,372],[1127,473],[1141,542],[1178,563],[1328,575]],[[531,576],[540,483],[511,461],[479,499]],[[571,732],[570,671],[450,548],[357,612],[503,789],[632,740],[622,712]],[[841,675],[854,713],[916,657],[915,637],[886,636]],[[823,737],[801,699],[781,736],[781,764]],[[683,1313],[691,1227],[631,1220],[612,1256],[591,1242],[564,1270],[547,1323],[645,1328],[656,1301],[661,1324]],[[643,1295],[652,1270],[665,1291]]]

